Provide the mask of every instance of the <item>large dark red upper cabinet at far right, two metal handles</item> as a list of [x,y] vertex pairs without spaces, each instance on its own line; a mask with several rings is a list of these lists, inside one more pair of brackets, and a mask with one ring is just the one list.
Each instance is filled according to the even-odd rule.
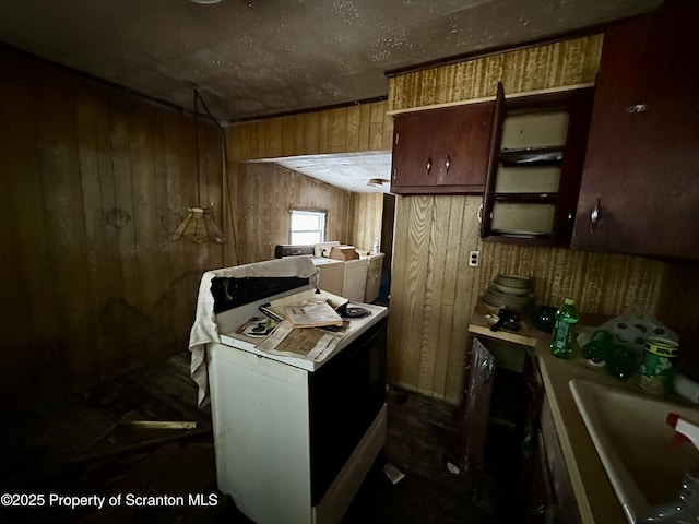
[[699,259],[699,2],[605,34],[572,246]]

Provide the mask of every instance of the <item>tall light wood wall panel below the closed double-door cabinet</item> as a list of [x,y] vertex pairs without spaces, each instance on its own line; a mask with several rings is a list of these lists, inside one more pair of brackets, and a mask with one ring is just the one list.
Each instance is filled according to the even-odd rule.
[[478,272],[481,199],[399,196],[389,305],[389,382],[457,402]]

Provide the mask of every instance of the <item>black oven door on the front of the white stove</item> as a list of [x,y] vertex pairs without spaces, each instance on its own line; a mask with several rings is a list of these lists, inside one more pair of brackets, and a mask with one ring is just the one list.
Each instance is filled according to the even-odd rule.
[[387,319],[309,373],[311,504],[317,505],[386,402]]

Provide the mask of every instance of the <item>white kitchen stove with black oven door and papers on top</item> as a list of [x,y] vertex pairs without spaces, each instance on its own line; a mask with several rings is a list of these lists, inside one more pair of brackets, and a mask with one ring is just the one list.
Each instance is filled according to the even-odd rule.
[[386,439],[386,308],[362,305],[321,361],[236,333],[296,290],[218,313],[206,346],[218,489],[258,524],[339,523]]

